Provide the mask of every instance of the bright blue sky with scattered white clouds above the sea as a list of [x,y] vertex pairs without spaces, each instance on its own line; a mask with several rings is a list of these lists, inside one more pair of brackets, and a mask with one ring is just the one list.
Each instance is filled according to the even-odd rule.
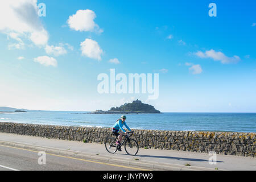
[[[0,106],[94,111],[139,99],[163,112],[256,112],[255,7],[240,0],[1,1]],[[127,82],[131,73],[152,74],[153,85],[158,74],[158,97],[99,93],[98,76],[110,82],[113,69]]]

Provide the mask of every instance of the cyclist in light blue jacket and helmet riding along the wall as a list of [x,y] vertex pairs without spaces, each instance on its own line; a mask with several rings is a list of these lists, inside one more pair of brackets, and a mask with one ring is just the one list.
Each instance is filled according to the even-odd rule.
[[[131,131],[131,129],[129,128],[129,126],[126,125],[125,122],[126,116],[122,115],[121,119],[117,119],[117,122],[115,122],[114,126],[112,127],[112,132],[118,136],[117,142],[116,144],[120,145],[122,142],[122,135],[123,134],[127,134],[126,131],[123,129],[123,125],[125,125],[125,127]],[[118,151],[121,151],[121,148],[118,147]]]

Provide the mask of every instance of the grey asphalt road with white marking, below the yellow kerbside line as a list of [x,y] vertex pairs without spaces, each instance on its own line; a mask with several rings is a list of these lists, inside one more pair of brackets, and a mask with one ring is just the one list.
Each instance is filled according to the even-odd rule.
[[[44,164],[45,163],[45,164]],[[0,171],[139,171],[145,168],[97,162],[92,159],[44,154],[0,145]]]

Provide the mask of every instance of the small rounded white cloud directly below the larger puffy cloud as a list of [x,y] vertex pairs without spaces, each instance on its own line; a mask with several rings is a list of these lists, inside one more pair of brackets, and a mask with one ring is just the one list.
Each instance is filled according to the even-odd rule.
[[85,39],[84,42],[81,42],[80,46],[82,55],[99,61],[101,60],[103,51],[95,40]]

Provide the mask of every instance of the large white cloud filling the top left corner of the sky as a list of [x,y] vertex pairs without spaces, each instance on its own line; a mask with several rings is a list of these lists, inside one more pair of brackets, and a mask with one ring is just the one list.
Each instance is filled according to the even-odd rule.
[[18,43],[9,47],[22,48],[22,39],[28,39],[36,46],[48,42],[48,33],[38,16],[36,0],[0,1],[0,32]]

